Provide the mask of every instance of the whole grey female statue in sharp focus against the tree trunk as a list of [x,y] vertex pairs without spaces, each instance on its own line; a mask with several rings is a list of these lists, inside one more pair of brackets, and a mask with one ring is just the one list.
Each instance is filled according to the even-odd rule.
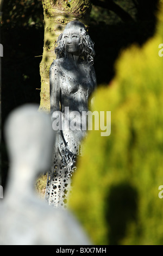
[[[54,206],[65,206],[71,175],[76,169],[76,156],[80,155],[80,143],[86,135],[80,117],[83,111],[88,111],[88,103],[96,87],[92,66],[95,52],[85,26],[79,21],[69,22],[55,45],[57,59],[49,71],[51,116],[53,129],[56,129],[55,121],[60,111],[62,127],[58,130],[53,166],[48,173],[46,201]],[[63,124],[73,122],[75,113],[80,115],[76,115],[76,129],[74,126],[65,129]]]

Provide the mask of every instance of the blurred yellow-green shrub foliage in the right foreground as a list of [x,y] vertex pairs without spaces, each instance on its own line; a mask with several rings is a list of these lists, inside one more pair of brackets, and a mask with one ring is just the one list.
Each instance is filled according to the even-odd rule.
[[96,245],[163,245],[162,16],[155,36],[123,52],[111,86],[95,94],[93,111],[111,111],[111,135],[85,139],[70,208]]

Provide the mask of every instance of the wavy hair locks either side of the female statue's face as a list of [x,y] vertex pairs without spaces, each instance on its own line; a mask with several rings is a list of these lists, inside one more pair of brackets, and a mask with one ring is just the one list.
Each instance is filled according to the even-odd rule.
[[[95,56],[95,50],[93,48],[94,42],[91,40],[89,34],[86,33],[85,28],[80,28],[81,44],[80,44],[80,58],[85,60],[87,64],[93,65],[93,57]],[[55,54],[57,59],[66,56],[64,33],[60,34],[57,42],[55,43]]]

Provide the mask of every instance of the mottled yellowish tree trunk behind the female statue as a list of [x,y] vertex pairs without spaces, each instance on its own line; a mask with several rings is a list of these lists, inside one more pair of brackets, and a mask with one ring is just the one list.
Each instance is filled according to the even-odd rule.
[[42,0],[44,14],[44,45],[40,63],[40,111],[49,112],[49,68],[55,59],[54,44],[72,20],[79,20],[87,27],[91,12],[90,0]]

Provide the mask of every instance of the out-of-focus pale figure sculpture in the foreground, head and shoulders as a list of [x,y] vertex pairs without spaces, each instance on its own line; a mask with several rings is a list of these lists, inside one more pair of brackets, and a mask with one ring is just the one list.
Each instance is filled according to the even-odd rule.
[[10,170],[0,202],[0,245],[89,245],[70,211],[36,196],[36,176],[51,166],[55,137],[49,115],[37,109],[19,107],[5,124]]

